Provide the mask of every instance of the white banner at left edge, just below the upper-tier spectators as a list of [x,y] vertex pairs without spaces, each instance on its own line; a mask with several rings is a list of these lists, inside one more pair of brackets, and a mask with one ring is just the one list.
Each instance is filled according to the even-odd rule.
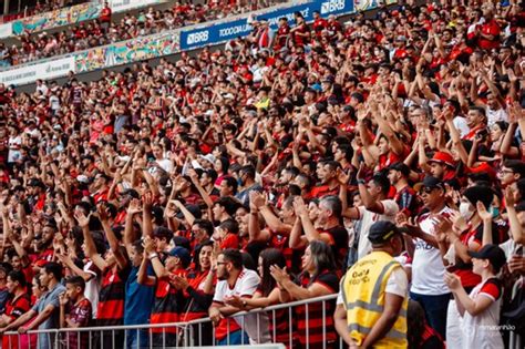
[[48,80],[65,76],[70,71],[74,71],[74,57],[2,71],[0,72],[0,82],[7,85],[23,85],[38,79]]

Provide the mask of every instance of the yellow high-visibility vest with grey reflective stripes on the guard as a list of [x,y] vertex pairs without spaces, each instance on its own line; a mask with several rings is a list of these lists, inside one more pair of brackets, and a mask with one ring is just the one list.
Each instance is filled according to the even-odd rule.
[[[372,252],[359,259],[341,279],[341,291],[347,309],[350,337],[362,345],[364,338],[375,325],[384,310],[387,281],[394,268],[401,265],[383,252]],[[406,308],[408,297],[398,320],[384,338],[377,341],[373,348],[406,348]]]

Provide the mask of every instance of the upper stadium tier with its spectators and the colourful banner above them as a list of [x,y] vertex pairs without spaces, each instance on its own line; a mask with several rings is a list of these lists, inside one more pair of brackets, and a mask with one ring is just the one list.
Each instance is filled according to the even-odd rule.
[[[130,9],[141,3],[144,6],[162,2],[166,1],[132,0],[125,8]],[[117,19],[112,18],[111,21],[101,14],[99,3],[84,3],[63,9],[62,12],[58,11],[58,16],[44,13],[37,19],[9,23],[12,27],[12,32],[20,33],[20,35],[17,37],[18,40],[14,44],[8,45],[0,42],[0,69],[222,19],[278,2],[282,2],[282,0],[249,2],[244,6],[176,3],[165,10],[150,7],[136,14],[125,13]],[[68,24],[68,28],[53,33],[41,31]]]

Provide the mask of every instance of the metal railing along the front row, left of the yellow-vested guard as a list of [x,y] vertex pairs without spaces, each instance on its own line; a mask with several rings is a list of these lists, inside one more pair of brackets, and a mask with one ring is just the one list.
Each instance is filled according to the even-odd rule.
[[[305,320],[306,336],[302,348],[343,348],[342,339],[337,338],[337,342],[329,342],[330,331],[334,328],[327,327],[327,319],[333,316],[337,294],[328,295],[306,300],[298,300],[281,305],[275,305],[267,308],[258,308],[249,311],[237,312],[228,318],[227,330],[224,338],[216,338],[216,331],[212,326],[209,318],[196,319],[187,322],[174,324],[146,324],[114,327],[84,327],[84,328],[62,328],[49,330],[31,330],[27,333],[6,332],[8,336],[9,348],[35,348],[34,340],[31,342],[31,336],[38,336],[37,340],[42,343],[45,341],[47,348],[101,348],[101,349],[121,349],[121,348],[187,348],[204,347],[216,345],[219,339],[226,345],[264,345],[284,342],[288,348],[299,342],[296,321]],[[330,305],[329,305],[330,304]],[[296,315],[295,308],[305,307],[303,318]],[[315,308],[322,314],[322,343],[310,346],[310,310]],[[234,320],[235,322],[231,322]],[[282,321],[288,322],[287,332],[279,332],[279,325]],[[231,325],[230,325],[231,324]],[[239,330],[231,331],[230,326],[240,327]],[[286,326],[284,327],[286,328]],[[27,336],[25,338],[23,336]],[[28,342],[21,346],[22,341]],[[85,346],[75,346],[84,341]],[[4,348],[6,349],[6,348]]]

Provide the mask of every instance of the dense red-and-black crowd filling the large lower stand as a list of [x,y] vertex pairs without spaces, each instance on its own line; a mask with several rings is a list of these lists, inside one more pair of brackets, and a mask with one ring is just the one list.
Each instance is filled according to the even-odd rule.
[[[231,315],[340,292],[257,326],[289,347],[292,326],[298,348],[503,348],[500,325],[524,324],[508,311],[525,273],[524,8],[463,2],[296,13],[275,32],[259,18],[223,50],[0,84],[1,331],[209,316],[200,343],[212,325],[218,343],[257,342]],[[340,280],[381,250],[395,301],[344,333],[349,295],[367,301],[348,291],[359,273]],[[37,340],[52,338],[3,348]]]

